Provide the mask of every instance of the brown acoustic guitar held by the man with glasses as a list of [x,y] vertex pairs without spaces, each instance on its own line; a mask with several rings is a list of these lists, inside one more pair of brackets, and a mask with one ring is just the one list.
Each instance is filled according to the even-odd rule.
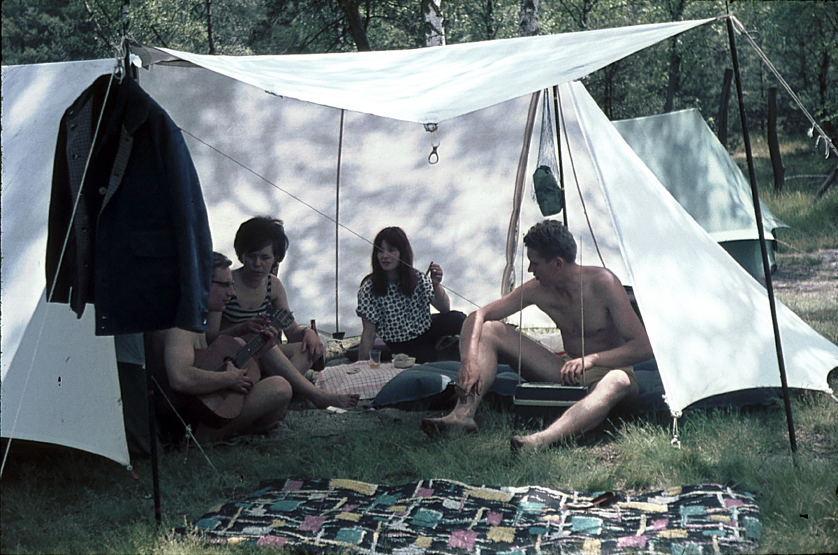
[[[285,309],[279,309],[271,315],[271,321],[266,327],[273,326],[285,331],[294,323],[294,318]],[[246,376],[253,381],[259,381],[261,371],[253,355],[267,343],[265,335],[256,334],[245,345],[241,345],[230,335],[219,335],[212,345],[206,349],[195,351],[195,366],[201,370],[224,371],[227,362],[236,368],[246,371]],[[202,413],[201,421],[211,428],[221,428],[229,420],[241,414],[245,404],[245,394],[222,389],[217,392],[204,393],[198,397],[198,409]]]

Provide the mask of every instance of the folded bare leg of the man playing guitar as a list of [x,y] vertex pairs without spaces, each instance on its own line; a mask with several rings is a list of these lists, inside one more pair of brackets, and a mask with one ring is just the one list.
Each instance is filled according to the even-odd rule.
[[245,433],[262,433],[274,428],[285,416],[291,402],[291,385],[279,376],[257,381],[245,397],[241,414],[223,428],[199,426],[195,438],[200,442],[220,441]]

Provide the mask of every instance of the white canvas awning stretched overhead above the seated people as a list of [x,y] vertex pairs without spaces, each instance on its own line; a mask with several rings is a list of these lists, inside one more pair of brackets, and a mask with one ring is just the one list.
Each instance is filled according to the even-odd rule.
[[438,123],[602,69],[715,19],[344,54],[215,56],[138,47],[278,96],[406,122]]

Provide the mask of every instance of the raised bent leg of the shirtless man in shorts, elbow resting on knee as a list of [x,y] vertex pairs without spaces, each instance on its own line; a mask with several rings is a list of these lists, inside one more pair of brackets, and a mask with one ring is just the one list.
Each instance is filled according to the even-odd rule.
[[[468,336],[472,326],[473,317],[469,316],[463,324],[462,335]],[[442,418],[423,419],[422,431],[428,435],[446,434],[453,430],[476,432],[478,425],[474,421],[474,414],[480,401],[494,384],[494,378],[498,373],[498,355],[517,360],[519,350],[521,372],[527,379],[559,381],[558,372],[563,364],[559,355],[529,337],[520,337],[517,330],[502,322],[484,322],[477,351],[481,391],[467,397],[458,397],[453,411]]]

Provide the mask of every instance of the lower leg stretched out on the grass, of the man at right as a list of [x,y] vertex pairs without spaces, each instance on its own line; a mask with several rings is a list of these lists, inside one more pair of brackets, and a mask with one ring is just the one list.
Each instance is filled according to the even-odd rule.
[[590,393],[581,401],[568,408],[541,432],[525,436],[512,436],[510,444],[513,452],[518,450],[539,449],[572,438],[596,428],[608,418],[608,413],[621,402],[630,402],[638,395],[637,384],[629,380],[622,370],[613,370],[593,386]]

